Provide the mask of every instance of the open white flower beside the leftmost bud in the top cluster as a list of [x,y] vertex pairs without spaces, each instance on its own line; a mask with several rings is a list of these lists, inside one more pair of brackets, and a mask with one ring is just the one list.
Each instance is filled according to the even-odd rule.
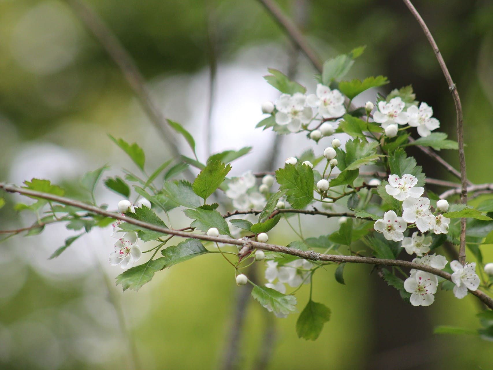
[[309,123],[312,119],[312,109],[305,107],[306,96],[302,93],[294,95],[282,94],[276,102],[276,123],[287,125],[291,132],[298,132],[302,123]]

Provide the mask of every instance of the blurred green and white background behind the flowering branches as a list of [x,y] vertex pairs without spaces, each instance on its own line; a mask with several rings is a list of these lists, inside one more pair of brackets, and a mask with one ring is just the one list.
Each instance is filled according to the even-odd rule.
[[[258,1],[85,3],[135,59],[163,114],[194,134],[200,159],[205,160],[208,151],[211,62],[217,64],[211,150],[254,146],[251,154],[234,162],[233,175],[278,168],[284,158],[313,146],[291,135],[273,149],[275,135],[254,128],[262,119],[260,104],[278,96],[262,78],[267,68],[289,72],[309,90],[315,88],[313,67]],[[455,138],[447,84],[401,1],[279,4],[323,59],[367,45],[349,77],[387,75],[391,83],[383,93],[412,84],[417,99],[433,107],[441,130]],[[462,98],[468,178],[492,182],[493,3],[422,0],[415,5]],[[373,99],[373,94],[355,103]],[[106,163],[111,169],[104,178],[121,174],[122,168],[135,170],[107,133],[139,143],[150,171],[173,155],[70,4],[0,0],[0,180],[19,185],[33,177],[46,178],[83,199],[87,194],[77,190],[77,183],[85,172]],[[185,155],[191,154],[181,137],[171,140]],[[316,152],[329,140],[322,139]],[[456,180],[419,152],[413,154],[428,176]],[[457,152],[442,155],[458,167]],[[96,196],[110,208],[120,200],[104,186]],[[34,221],[27,213],[12,211],[20,197],[5,199],[0,229]],[[179,211],[173,217],[175,227],[187,222]],[[337,228],[335,220],[302,222],[306,236]],[[346,285],[335,282],[329,267],[315,275],[314,299],[331,308],[332,318],[317,341],[307,342],[296,336],[297,315],[276,319],[248,299],[238,317],[245,292],[236,287],[229,265],[215,255],[162,271],[138,293],[122,293],[114,286],[121,269],[107,263],[114,243],[109,233],[108,228],[94,229],[53,260],[47,258],[73,235],[63,225],[0,244],[1,369],[450,370],[490,369],[493,363],[491,342],[432,334],[437,325],[478,327],[478,306],[470,296],[458,300],[450,292],[439,292],[432,306],[415,308],[387,288],[371,267],[348,265]],[[284,245],[294,238],[285,224],[271,235],[272,242]],[[491,250],[483,253],[486,261],[493,260]],[[260,282],[263,268],[256,268]],[[308,286],[297,298],[301,310]],[[242,335],[235,342],[239,323]],[[232,352],[231,343],[238,344]],[[233,354],[229,363],[227,353]]]

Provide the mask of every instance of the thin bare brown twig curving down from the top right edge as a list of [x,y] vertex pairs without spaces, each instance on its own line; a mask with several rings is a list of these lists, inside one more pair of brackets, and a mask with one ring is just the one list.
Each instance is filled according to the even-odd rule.
[[[467,176],[465,169],[465,154],[464,154],[464,134],[462,129],[462,105],[460,104],[460,97],[457,91],[457,86],[452,80],[452,76],[443,60],[442,54],[440,53],[440,49],[438,49],[438,45],[436,44],[433,36],[431,36],[431,32],[424,23],[423,18],[420,13],[416,10],[414,5],[409,0],[402,0],[404,4],[409,8],[411,13],[414,15],[418,23],[420,24],[424,35],[428,39],[433,51],[435,52],[436,59],[438,60],[438,64],[442,69],[443,75],[447,80],[447,84],[449,85],[449,91],[452,93],[452,97],[454,98],[454,104],[456,106],[456,115],[457,115],[457,142],[458,142],[458,151],[459,151],[459,166],[460,166],[460,202],[462,204],[467,204]],[[459,247],[459,262],[465,263],[465,218],[460,219],[460,247]]]

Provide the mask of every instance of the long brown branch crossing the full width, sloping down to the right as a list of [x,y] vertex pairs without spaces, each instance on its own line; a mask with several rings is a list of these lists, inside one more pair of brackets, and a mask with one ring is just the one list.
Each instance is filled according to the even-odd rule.
[[[44,192],[40,192],[40,191],[25,189],[22,187],[17,187],[15,185],[8,185],[5,183],[0,183],[0,189],[3,189],[3,190],[10,192],[10,193],[19,193],[19,194],[27,195],[30,197],[47,199],[47,200],[51,200],[53,202],[57,202],[57,203],[65,204],[65,205],[70,205],[73,207],[77,207],[77,208],[86,210],[86,211],[91,212],[91,213],[95,213],[98,215],[109,217],[109,218],[112,218],[115,220],[120,220],[123,222],[128,222],[128,223],[143,227],[143,228],[148,229],[148,230],[161,232],[163,234],[179,236],[182,238],[192,238],[192,239],[199,239],[199,240],[205,240],[205,241],[216,242],[216,243],[236,245],[236,246],[243,247],[242,250],[261,249],[264,251],[279,252],[279,253],[284,253],[287,255],[296,256],[296,257],[300,257],[303,259],[315,260],[315,261],[365,263],[365,264],[372,264],[372,265],[400,266],[400,267],[406,267],[406,268],[414,268],[417,270],[432,273],[434,275],[440,276],[444,279],[451,281],[451,274],[449,274],[448,272],[433,268],[431,266],[426,266],[426,265],[422,265],[419,263],[404,261],[404,260],[400,260],[400,259],[378,259],[378,258],[373,258],[373,257],[360,257],[360,256],[325,255],[325,254],[317,253],[317,252],[312,251],[312,250],[300,251],[298,249],[287,248],[287,247],[283,247],[283,246],[275,245],[275,244],[260,243],[260,242],[255,242],[255,241],[247,240],[247,239],[238,240],[238,239],[234,239],[234,238],[209,236],[207,234],[194,234],[194,233],[190,233],[190,232],[184,232],[184,231],[180,231],[180,230],[169,229],[167,227],[154,225],[152,223],[142,222],[142,221],[133,219],[131,217],[127,217],[127,216],[124,216],[121,214],[106,211],[102,208],[95,207],[95,206],[89,205],[87,203],[79,202],[77,200],[73,200],[70,198],[65,198],[65,197],[61,197],[61,196],[53,195],[53,194],[49,194],[49,193],[44,193]],[[240,254],[241,253],[242,253],[242,251],[240,251]],[[469,291],[469,293],[471,293],[474,296],[477,296],[490,309],[493,309],[493,299],[490,296],[486,295],[484,292],[482,292],[480,290]]]

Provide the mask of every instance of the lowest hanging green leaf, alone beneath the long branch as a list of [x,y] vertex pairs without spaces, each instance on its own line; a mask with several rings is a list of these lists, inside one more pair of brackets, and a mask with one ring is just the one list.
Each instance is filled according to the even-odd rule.
[[299,338],[316,340],[322,332],[323,324],[330,320],[330,309],[310,299],[296,322]]

